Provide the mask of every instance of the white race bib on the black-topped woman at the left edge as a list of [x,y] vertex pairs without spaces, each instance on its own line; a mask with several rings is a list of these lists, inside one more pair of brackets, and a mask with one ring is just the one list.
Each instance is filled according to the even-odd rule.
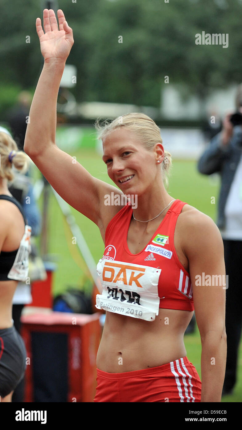
[[15,257],[15,261],[8,273],[9,279],[15,279],[16,281],[26,281],[29,271],[29,253],[31,252],[31,227],[25,226],[24,236],[21,239],[18,252]]

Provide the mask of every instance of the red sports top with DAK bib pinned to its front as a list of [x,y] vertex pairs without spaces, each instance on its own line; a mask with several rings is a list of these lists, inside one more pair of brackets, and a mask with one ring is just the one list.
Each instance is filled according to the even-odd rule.
[[152,321],[158,309],[194,310],[189,273],[174,246],[177,218],[186,203],[175,200],[145,248],[127,245],[132,208],[124,206],[108,224],[104,255],[97,265],[102,295],[98,309]]

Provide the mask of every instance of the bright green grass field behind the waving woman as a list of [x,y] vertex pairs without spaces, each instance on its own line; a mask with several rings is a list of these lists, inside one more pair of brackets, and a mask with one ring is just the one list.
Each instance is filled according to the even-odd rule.
[[[82,149],[70,153],[75,156],[93,176],[111,183],[106,172],[105,163],[94,150]],[[36,172],[36,175],[39,174]],[[196,170],[194,161],[173,160],[173,169],[169,180],[168,193],[175,199],[180,199],[209,215],[216,221],[219,178],[200,175]],[[78,190],[77,190],[78,193]],[[215,204],[211,203],[211,197],[215,197]],[[42,206],[42,198],[39,200]],[[81,228],[85,240],[90,248],[94,260],[97,262],[103,255],[104,244],[98,227],[92,221],[85,218],[72,208],[76,222]],[[68,230],[66,222],[57,204],[54,195],[51,195],[48,211],[49,222],[49,247],[48,252],[58,257],[58,269],[54,274],[54,295],[66,290],[68,286],[82,288],[84,283],[84,264],[77,246],[72,244],[72,233]],[[188,359],[194,364],[201,377],[200,335],[196,331],[192,335],[185,335],[185,347]],[[242,342],[239,350],[238,380],[232,396],[224,396],[222,402],[242,401]]]

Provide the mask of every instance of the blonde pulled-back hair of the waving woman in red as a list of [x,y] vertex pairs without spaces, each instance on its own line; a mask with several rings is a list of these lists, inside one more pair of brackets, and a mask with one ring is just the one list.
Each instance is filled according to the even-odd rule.
[[[120,127],[127,127],[140,138],[144,147],[151,151],[156,143],[162,144],[159,127],[150,117],[142,113],[131,113],[117,117],[110,122],[106,120],[100,123],[100,120],[95,121],[95,128],[98,133],[98,138],[104,140],[109,133]],[[163,182],[168,186],[168,176],[170,175],[172,159],[170,152],[164,151],[164,160],[161,163]]]

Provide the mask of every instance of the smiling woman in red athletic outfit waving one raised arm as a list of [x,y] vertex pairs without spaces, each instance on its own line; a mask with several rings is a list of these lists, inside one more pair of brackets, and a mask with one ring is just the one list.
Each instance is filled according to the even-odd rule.
[[[44,10],[45,33],[41,19],[36,20],[45,63],[24,151],[57,193],[99,227],[105,243],[97,265],[102,294],[96,307],[107,312],[94,401],[220,402],[225,288],[196,282],[203,273],[225,275],[219,230],[211,218],[165,190],[170,156],[146,115],[125,115],[100,133],[108,175],[120,190],[73,164],[57,147],[57,94],[74,43],[62,10],[57,15],[59,29],[54,11]],[[107,206],[112,193],[137,195],[137,207],[130,202]],[[202,387],[183,342],[194,309],[202,343]]]

